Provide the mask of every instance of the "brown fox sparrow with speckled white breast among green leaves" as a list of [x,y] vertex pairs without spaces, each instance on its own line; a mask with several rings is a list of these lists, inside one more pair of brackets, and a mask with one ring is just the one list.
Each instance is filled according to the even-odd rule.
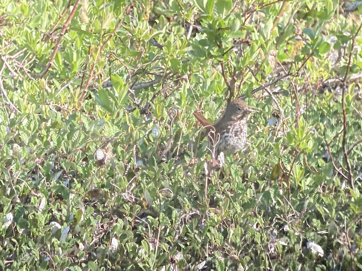
[[251,111],[244,100],[235,99],[226,107],[226,111],[214,125],[204,116],[194,112],[194,116],[206,128],[211,143],[216,143],[218,152],[235,154],[243,149],[247,141],[246,117]]

